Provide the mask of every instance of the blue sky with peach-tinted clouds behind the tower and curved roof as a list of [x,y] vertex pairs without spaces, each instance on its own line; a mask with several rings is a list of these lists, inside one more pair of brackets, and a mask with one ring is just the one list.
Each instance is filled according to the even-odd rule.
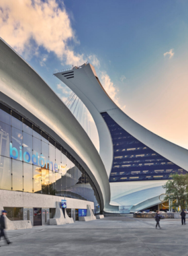
[[188,149],[187,13],[187,0],[1,0],[0,36],[66,103],[54,71],[89,61],[124,113]]

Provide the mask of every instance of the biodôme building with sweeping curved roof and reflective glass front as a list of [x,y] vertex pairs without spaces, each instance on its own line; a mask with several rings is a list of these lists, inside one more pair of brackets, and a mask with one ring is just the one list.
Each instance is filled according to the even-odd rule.
[[109,205],[107,172],[87,133],[1,39],[0,210],[7,210],[11,221],[41,225],[57,213],[62,199],[74,220],[89,209],[94,214],[118,210]]

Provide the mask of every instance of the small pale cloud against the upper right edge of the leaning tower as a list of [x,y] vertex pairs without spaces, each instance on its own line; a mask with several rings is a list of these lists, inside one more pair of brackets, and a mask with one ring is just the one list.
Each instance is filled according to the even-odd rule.
[[119,92],[118,88],[115,88],[113,82],[111,82],[111,79],[109,78],[109,75],[105,72],[101,72],[101,84],[103,85],[103,88],[109,94],[109,97],[120,106],[117,98],[117,93]]

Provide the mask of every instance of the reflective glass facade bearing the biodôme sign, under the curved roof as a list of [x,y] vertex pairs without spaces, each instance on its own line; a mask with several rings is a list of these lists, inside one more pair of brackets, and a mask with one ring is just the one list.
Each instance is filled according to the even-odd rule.
[[0,104],[0,189],[93,201],[97,189],[82,166],[32,122]]

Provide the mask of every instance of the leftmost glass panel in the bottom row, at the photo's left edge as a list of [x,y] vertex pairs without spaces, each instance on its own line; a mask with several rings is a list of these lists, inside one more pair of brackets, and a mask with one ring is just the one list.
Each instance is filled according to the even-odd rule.
[[11,159],[0,156],[0,189],[11,190]]

